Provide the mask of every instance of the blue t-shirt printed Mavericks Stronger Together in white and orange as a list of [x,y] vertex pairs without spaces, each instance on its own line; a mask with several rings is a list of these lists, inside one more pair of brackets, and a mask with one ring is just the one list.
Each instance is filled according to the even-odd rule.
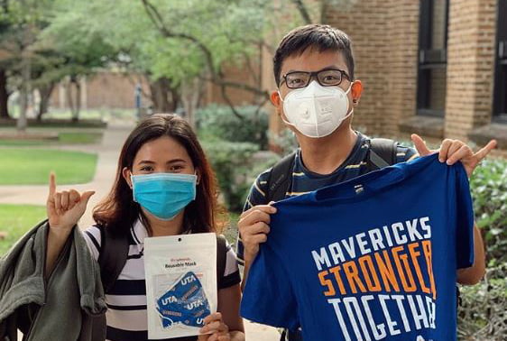
[[241,315],[305,340],[456,340],[456,269],[474,262],[466,171],[438,155],[275,204]]

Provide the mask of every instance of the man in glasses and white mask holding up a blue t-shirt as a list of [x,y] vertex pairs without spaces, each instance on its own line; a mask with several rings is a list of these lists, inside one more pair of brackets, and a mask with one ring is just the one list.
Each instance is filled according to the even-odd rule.
[[[346,33],[322,24],[296,28],[282,39],[273,63],[278,89],[272,92],[272,104],[300,145],[285,198],[371,171],[371,141],[351,125],[363,86],[354,78],[354,57]],[[418,135],[413,134],[412,141],[417,152],[398,145],[395,162],[432,152]],[[465,143],[445,140],[438,158],[449,165],[462,161],[470,176],[495,145],[491,141],[474,153]],[[244,281],[259,245],[268,238],[270,215],[276,212],[266,198],[271,171],[264,171],[255,180],[238,223],[237,253],[244,265]],[[484,274],[484,245],[476,226],[474,234],[475,263],[457,271],[457,281],[462,284],[475,284]],[[296,333],[290,340],[299,337]]]

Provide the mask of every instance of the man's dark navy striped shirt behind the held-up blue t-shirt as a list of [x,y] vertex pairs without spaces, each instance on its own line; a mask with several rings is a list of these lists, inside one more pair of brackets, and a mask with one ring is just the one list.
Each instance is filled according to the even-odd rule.
[[[296,152],[292,169],[290,189],[285,193],[285,198],[306,194],[312,190],[321,189],[366,174],[368,172],[368,167],[366,166],[370,149],[369,137],[359,132],[355,133],[357,134],[357,139],[352,152],[350,152],[346,161],[330,174],[322,175],[309,171],[301,161],[301,151],[299,149]],[[401,145],[397,146],[396,163],[409,161],[417,156],[418,153],[413,148]],[[266,199],[266,192],[271,171],[272,168],[263,171],[253,182],[250,193],[244,203],[244,211],[253,206],[268,204],[269,200]],[[244,246],[239,235],[236,248],[238,263],[244,265]]]

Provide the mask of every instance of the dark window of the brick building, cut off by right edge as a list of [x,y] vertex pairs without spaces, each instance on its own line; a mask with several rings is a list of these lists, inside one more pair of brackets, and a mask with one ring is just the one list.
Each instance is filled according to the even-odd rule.
[[507,0],[498,0],[493,121],[507,123]]

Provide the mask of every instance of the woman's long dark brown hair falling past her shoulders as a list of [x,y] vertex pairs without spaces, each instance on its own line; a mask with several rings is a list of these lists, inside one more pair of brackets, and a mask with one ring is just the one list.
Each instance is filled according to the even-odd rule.
[[148,230],[151,227],[144,217],[141,207],[134,202],[132,189],[122,175],[126,167],[132,170],[134,158],[144,143],[169,136],[178,141],[189,153],[194,167],[199,170],[196,199],[185,207],[184,231],[192,233],[217,232],[217,182],[214,172],[207,162],[196,134],[189,123],[178,115],[152,115],[135,127],[127,137],[116,170],[113,188],[93,210],[97,224],[112,228],[115,233],[128,233],[137,218],[141,217]]

